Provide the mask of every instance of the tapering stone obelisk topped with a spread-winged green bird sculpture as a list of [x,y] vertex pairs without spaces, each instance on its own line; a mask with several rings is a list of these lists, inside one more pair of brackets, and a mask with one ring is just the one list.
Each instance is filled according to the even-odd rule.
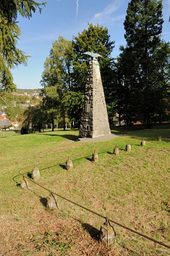
[[94,138],[111,134],[99,63],[94,57],[89,64],[79,138]]

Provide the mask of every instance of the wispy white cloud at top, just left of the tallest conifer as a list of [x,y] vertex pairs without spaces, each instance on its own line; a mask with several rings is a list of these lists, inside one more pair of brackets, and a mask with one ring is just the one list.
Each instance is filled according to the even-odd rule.
[[124,0],[113,0],[105,9],[99,13],[94,14],[93,22],[95,23],[110,23],[116,20],[122,20],[125,15],[113,17],[113,13],[117,11],[122,5]]

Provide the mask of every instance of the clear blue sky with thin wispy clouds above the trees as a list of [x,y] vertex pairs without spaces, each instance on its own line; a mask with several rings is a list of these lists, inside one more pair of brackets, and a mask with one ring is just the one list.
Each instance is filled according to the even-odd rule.
[[[39,1],[40,2],[40,1]],[[115,41],[113,57],[119,46],[125,45],[124,26],[129,0],[47,0],[42,13],[38,11],[28,20],[18,17],[22,34],[18,48],[31,55],[28,65],[12,70],[17,88],[41,88],[40,80],[45,58],[59,35],[71,40],[88,22],[108,27],[111,40]],[[164,40],[170,41],[170,0],[163,0]]]

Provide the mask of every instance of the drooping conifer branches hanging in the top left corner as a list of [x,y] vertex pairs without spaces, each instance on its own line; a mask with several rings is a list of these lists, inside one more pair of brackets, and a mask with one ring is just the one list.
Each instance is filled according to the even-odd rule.
[[26,65],[27,57],[17,48],[20,36],[20,27],[17,25],[17,15],[30,19],[32,13],[41,5],[33,0],[1,0],[0,1],[0,90],[13,91],[14,85],[11,68],[23,63]]

